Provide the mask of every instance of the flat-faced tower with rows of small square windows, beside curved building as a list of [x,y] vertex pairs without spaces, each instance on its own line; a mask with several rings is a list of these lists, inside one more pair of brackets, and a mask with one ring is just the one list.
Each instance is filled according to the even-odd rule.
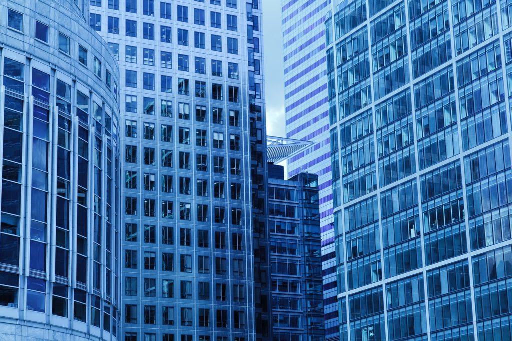
[[270,318],[258,0],[93,0],[90,25],[121,69],[121,337],[254,339]]

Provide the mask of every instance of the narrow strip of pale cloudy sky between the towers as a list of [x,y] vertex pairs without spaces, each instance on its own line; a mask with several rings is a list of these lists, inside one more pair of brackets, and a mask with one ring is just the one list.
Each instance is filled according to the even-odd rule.
[[286,137],[281,0],[262,0],[267,135]]

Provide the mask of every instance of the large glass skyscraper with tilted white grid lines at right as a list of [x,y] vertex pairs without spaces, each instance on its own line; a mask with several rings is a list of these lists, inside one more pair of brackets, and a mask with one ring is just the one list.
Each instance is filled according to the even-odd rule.
[[342,339],[510,337],[509,8],[333,3]]

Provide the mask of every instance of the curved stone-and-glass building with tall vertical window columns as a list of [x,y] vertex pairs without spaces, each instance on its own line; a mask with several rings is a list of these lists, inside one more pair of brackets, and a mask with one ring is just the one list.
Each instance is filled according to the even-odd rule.
[[114,340],[118,66],[82,0],[0,4],[0,334]]

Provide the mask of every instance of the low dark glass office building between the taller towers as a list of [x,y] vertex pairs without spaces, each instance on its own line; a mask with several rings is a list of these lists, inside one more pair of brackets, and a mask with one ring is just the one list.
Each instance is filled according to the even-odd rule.
[[268,166],[272,340],[324,340],[318,176]]

